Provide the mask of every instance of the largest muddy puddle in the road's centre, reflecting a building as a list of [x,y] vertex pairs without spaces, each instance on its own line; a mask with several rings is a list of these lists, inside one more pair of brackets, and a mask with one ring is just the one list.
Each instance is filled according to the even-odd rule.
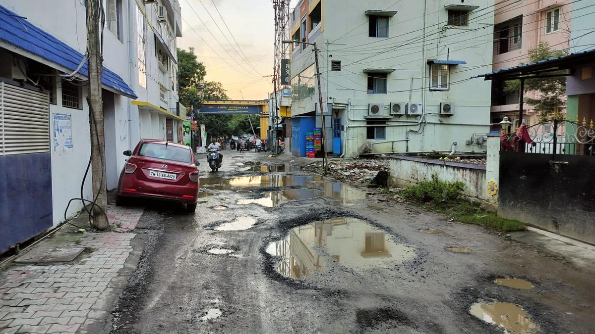
[[415,248],[393,241],[383,230],[356,218],[333,218],[293,228],[271,242],[267,253],[280,257],[275,269],[283,276],[305,278],[330,262],[356,270],[392,267],[414,259]]

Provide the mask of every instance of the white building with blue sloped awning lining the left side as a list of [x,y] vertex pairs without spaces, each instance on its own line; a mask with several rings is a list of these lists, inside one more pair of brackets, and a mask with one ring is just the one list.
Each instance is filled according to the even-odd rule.
[[[141,138],[180,140],[186,108],[177,85],[179,1],[102,4],[105,164],[112,190],[125,163],[122,152]],[[2,175],[6,198],[0,201],[11,208],[2,210],[10,221],[21,225],[12,234],[18,240],[60,223],[70,198],[80,197],[90,155],[86,10],[86,0],[0,0],[0,94],[15,101],[0,107],[0,165],[15,173]],[[37,172],[25,182],[17,174],[27,169]],[[27,200],[23,193],[8,197],[21,190]],[[90,177],[83,196],[92,197]],[[27,203],[42,207],[41,218],[31,216],[39,212],[27,210]],[[73,202],[66,215],[81,207]],[[13,244],[0,240],[0,251]]]

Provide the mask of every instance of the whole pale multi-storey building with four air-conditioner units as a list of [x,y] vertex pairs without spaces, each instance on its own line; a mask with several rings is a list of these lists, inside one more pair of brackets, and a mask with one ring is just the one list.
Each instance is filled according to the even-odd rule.
[[[296,42],[320,49],[326,149],[362,152],[482,152],[489,131],[493,1],[302,0]],[[291,137],[320,127],[313,46],[295,43]]]

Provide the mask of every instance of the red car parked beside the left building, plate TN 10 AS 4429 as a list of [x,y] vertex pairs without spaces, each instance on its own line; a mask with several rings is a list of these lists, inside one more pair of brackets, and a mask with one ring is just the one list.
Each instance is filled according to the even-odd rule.
[[200,186],[198,165],[190,147],[163,140],[143,139],[129,156],[118,182],[117,205],[131,197],[186,204],[196,210]]

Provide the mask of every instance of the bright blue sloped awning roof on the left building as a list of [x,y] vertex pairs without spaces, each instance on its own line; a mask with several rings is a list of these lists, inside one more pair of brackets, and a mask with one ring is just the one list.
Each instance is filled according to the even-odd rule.
[[[45,65],[65,73],[75,71],[84,57],[82,53],[58,40],[52,34],[39,29],[26,18],[2,6],[0,6],[0,46],[27,56],[27,58],[39,59]],[[79,74],[83,77],[89,75],[87,62],[83,64]],[[104,88],[111,92],[131,99],[137,97],[120,75],[106,67],[102,71],[101,81]]]

